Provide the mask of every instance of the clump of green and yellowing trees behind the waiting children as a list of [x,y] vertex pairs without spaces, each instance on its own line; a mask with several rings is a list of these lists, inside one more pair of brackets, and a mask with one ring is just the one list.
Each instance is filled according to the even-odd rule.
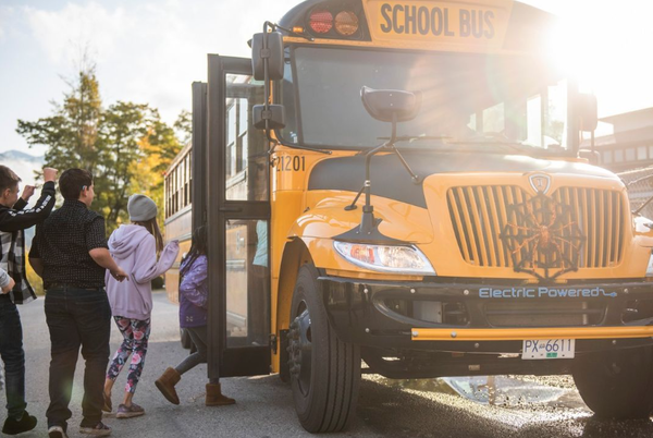
[[69,85],[63,102],[52,102],[50,117],[19,120],[17,133],[29,146],[48,147],[46,166],[94,173],[93,208],[107,219],[108,233],[128,220],[132,193],[145,193],[163,210],[163,172],[181,149],[174,129],[146,104],[116,101],[103,108],[94,65]]

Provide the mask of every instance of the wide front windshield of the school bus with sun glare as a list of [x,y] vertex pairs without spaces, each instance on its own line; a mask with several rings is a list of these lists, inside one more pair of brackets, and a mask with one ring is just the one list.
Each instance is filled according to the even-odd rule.
[[421,93],[417,118],[398,124],[399,147],[567,149],[567,82],[533,58],[315,46],[289,54],[284,142],[355,149],[381,144],[391,125],[365,110],[366,85]]

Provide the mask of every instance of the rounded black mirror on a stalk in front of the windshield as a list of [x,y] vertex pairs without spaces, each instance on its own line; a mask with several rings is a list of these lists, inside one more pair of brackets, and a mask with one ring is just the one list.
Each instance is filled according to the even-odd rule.
[[407,122],[415,119],[421,105],[421,93],[399,89],[360,88],[367,112],[382,122]]

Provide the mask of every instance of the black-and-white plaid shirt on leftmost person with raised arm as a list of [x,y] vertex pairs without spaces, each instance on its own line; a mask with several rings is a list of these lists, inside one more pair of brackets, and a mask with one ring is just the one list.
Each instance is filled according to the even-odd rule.
[[42,222],[54,207],[54,183],[44,184],[41,195],[34,208],[25,209],[27,203],[20,198],[13,208],[0,205],[0,268],[16,282],[10,292],[14,304],[29,303],[36,294],[27,281],[25,271],[25,233],[23,230]]

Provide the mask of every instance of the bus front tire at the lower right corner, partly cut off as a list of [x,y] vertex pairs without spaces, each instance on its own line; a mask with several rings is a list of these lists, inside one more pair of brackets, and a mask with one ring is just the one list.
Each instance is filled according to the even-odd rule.
[[572,374],[580,397],[599,417],[653,413],[653,346],[588,354]]

